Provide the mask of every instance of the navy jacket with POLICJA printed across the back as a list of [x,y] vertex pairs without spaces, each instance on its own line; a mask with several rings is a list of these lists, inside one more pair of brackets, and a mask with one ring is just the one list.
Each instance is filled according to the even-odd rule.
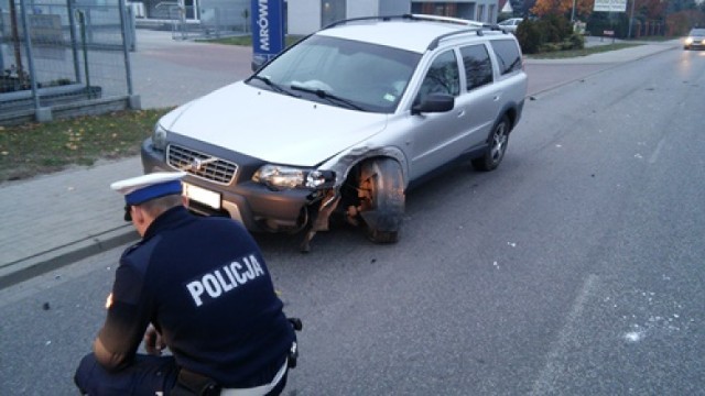
[[107,369],[128,365],[149,323],[177,365],[225,387],[264,384],[294,341],[253,239],[238,222],[184,207],[159,216],[120,258],[98,337]]

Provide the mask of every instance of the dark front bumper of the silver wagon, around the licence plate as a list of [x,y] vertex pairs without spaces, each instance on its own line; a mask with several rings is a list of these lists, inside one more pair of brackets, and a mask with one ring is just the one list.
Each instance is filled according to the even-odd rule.
[[[173,142],[170,144],[174,144]],[[205,216],[227,216],[240,221],[253,232],[295,232],[308,222],[308,208],[318,200],[316,191],[307,189],[273,190],[251,180],[252,174],[264,163],[242,154],[221,147],[210,146],[203,142],[177,142],[199,153],[208,153],[212,157],[227,160],[237,164],[235,175],[229,183],[214,183],[189,167],[177,168],[166,161],[166,153],[155,151],[152,140],[142,143],[141,156],[144,173],[184,170],[187,173],[184,183],[200,187],[219,195],[220,208],[189,200],[189,210]]]

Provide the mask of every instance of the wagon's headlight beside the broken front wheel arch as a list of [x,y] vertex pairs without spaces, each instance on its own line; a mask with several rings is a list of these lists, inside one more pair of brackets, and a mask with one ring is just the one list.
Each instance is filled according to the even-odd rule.
[[252,180],[273,188],[321,188],[332,185],[335,175],[329,170],[308,170],[281,165],[264,165],[260,167]]

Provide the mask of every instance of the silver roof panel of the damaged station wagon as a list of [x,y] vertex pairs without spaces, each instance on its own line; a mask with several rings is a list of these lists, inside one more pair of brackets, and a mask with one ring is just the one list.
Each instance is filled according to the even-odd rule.
[[[451,19],[448,19],[451,21]],[[459,20],[458,20],[459,21]],[[455,32],[477,35],[481,23],[465,21],[467,25],[443,21],[366,20],[351,21],[318,31],[317,35],[355,40],[390,47],[424,53],[440,36]]]

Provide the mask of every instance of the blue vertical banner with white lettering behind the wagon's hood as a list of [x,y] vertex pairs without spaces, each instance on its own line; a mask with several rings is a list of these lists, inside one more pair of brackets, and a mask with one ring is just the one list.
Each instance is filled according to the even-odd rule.
[[262,65],[284,50],[284,1],[252,0],[252,63]]

